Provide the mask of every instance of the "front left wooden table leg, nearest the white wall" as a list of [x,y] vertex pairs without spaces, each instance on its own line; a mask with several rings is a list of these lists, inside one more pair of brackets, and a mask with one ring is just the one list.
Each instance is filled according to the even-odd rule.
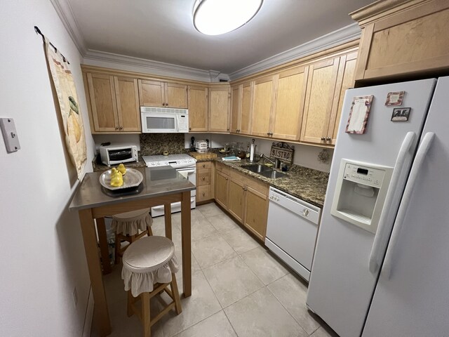
[[91,277],[95,317],[98,319],[100,335],[107,336],[111,333],[111,321],[109,320],[109,311],[107,309],[105,285],[103,284],[100,257],[98,256],[95,221],[93,220],[91,209],[81,209],[79,211],[79,220],[89,276]]

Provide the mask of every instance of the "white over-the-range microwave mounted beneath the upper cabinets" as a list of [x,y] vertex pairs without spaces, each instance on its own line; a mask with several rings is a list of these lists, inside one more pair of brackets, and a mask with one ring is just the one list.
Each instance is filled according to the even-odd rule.
[[171,107],[140,107],[142,133],[187,133],[189,110]]

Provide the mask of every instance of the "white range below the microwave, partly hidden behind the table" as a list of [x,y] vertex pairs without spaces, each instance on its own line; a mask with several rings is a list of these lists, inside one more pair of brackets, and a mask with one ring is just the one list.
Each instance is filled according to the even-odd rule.
[[[147,167],[172,166],[182,176],[185,176],[192,184],[196,185],[196,159],[188,154],[168,154],[168,156],[142,156]],[[196,207],[196,190],[190,192],[190,208]],[[181,211],[181,203],[173,202],[171,204],[171,213]],[[163,216],[163,205],[152,207],[152,217]]]

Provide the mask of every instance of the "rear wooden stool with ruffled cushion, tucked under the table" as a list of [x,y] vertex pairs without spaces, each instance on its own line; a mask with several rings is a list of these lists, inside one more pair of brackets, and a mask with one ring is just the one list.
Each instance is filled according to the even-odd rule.
[[[115,264],[128,248],[129,244],[135,242],[145,235],[152,235],[153,219],[149,215],[149,209],[138,209],[126,213],[112,216],[112,230],[115,232]],[[121,242],[128,242],[126,246],[121,247]]]

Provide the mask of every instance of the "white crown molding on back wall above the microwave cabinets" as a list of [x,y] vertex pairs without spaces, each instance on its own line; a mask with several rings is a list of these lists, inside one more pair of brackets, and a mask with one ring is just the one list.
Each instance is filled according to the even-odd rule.
[[145,58],[134,58],[133,56],[88,49],[86,55],[84,56],[84,63],[88,65],[105,66],[100,65],[99,62],[107,62],[108,67],[111,67],[111,63],[115,63],[122,69],[123,67],[128,68],[123,70],[130,70],[129,67],[138,67],[140,69],[144,69],[145,72],[149,74],[192,79],[194,81],[213,82],[218,81],[219,78],[228,78],[226,74],[220,74],[220,72],[215,70],[201,70],[191,67],[184,67],[182,65],[173,65],[171,63],[147,60]]

